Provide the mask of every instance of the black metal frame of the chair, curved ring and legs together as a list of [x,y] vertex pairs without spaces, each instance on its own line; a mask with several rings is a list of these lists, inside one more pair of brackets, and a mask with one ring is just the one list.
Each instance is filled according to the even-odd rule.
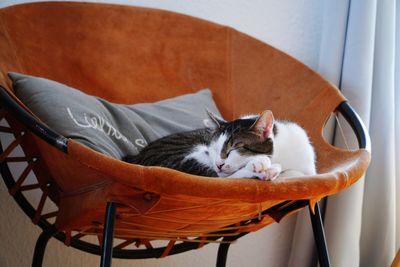
[[[68,153],[68,141],[62,135],[57,134],[50,128],[48,128],[43,123],[37,121],[31,114],[21,108],[10,95],[6,92],[6,90],[0,86],[0,103],[2,107],[10,110],[15,116],[17,120],[21,122],[26,128],[32,131],[34,134],[41,137],[44,141],[53,145],[54,147],[60,149],[64,153]],[[359,147],[363,149],[370,150],[370,140],[368,136],[368,131],[364,124],[362,123],[360,117],[353,110],[353,108],[347,103],[342,102],[338,108],[339,111],[347,122],[352,127],[355,135],[357,136]],[[0,153],[3,152],[3,148],[0,146]],[[7,162],[0,163],[0,172],[3,177],[3,180],[6,186],[10,189],[14,186],[15,181],[12,177],[12,174],[8,168]],[[30,218],[33,218],[35,215],[35,209],[32,205],[26,200],[26,198],[22,195],[21,192],[16,192],[14,194],[14,199],[21,207],[21,209],[28,215]],[[290,202],[290,201],[288,201]],[[285,202],[287,203],[287,202]],[[291,209],[301,208],[307,205],[307,201],[300,200],[293,202],[291,205]],[[269,214],[274,219],[279,221],[281,218],[279,215],[274,217],[276,214],[274,210],[279,208],[280,204],[264,211],[262,214]],[[108,203],[105,213],[105,227],[103,234],[103,246],[100,249],[99,246],[93,245],[91,243],[79,240],[77,238],[72,237],[70,241],[70,245],[76,249],[89,252],[96,255],[101,255],[101,266],[110,266],[111,258],[122,258],[122,259],[145,259],[145,258],[159,258],[163,255],[165,247],[161,248],[152,248],[152,249],[113,249],[112,240],[113,240],[113,232],[114,232],[114,220],[115,220],[115,212],[116,212],[116,204]],[[323,228],[323,222],[321,218],[320,208],[317,203],[315,207],[315,213],[311,212],[310,207],[310,215],[311,221],[315,236],[315,241],[317,245],[318,257],[321,266],[330,266],[328,250],[325,241],[325,233]],[[57,229],[54,225],[50,224],[45,218],[41,217],[39,219],[38,225],[43,229],[43,233],[40,235],[36,247],[34,258],[32,261],[32,266],[41,266],[44,250],[47,244],[47,241],[54,236],[58,240],[65,242],[66,235],[62,232],[57,232]],[[236,239],[246,235],[247,233],[240,233],[236,236],[224,237],[224,241],[235,241]],[[213,237],[213,240],[218,240],[221,237]],[[207,243],[206,243],[207,244]],[[226,264],[227,254],[229,250],[229,243],[222,243],[218,249],[217,256],[217,266],[223,267]],[[185,251],[189,251],[192,249],[197,249],[198,244],[183,242],[180,244],[176,244],[171,249],[169,255],[174,255],[178,253],[182,253]]]

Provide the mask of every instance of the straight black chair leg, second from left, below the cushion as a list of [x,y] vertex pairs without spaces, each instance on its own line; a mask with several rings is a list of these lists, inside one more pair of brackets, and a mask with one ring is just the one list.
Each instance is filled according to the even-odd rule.
[[104,218],[103,246],[102,246],[101,261],[100,261],[101,267],[111,266],[116,209],[117,208],[115,203],[113,202],[107,203],[107,208]]

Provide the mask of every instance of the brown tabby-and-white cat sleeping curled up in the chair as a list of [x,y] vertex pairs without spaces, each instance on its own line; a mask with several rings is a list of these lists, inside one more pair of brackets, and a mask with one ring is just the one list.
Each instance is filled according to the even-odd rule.
[[282,167],[315,173],[313,148],[297,124],[275,122],[269,110],[230,122],[209,117],[206,128],[160,138],[124,160],[210,177],[273,180]]

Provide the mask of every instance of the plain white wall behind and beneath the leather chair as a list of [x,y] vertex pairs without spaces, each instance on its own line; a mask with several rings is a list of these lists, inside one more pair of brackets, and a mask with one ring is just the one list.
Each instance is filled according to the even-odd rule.
[[[1,0],[0,7],[23,2]],[[189,14],[232,26],[318,67],[324,1],[320,0],[115,0]],[[227,266],[287,266],[295,217],[252,233],[231,246]],[[0,266],[30,266],[39,235],[0,182]],[[216,245],[161,260],[113,260],[113,266],[214,266]],[[43,266],[98,266],[99,258],[50,240]]]

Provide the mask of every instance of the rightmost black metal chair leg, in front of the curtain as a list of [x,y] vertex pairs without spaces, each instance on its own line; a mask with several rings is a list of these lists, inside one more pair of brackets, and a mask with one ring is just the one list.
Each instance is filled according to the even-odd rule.
[[320,266],[329,267],[330,261],[329,261],[328,247],[326,245],[325,231],[324,231],[324,225],[322,223],[319,203],[315,205],[314,213],[312,213],[311,208],[309,210],[310,210],[311,223],[314,231],[315,244],[317,246]]

